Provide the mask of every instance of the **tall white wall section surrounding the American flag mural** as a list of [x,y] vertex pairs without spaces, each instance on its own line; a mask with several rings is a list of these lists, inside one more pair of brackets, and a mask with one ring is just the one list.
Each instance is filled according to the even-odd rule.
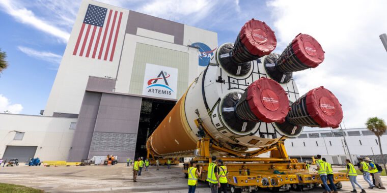
[[[123,13],[113,61],[73,55],[89,4]],[[91,0],[82,1],[43,115],[78,114],[89,76],[116,78],[129,10]],[[89,36],[90,37],[90,36]]]

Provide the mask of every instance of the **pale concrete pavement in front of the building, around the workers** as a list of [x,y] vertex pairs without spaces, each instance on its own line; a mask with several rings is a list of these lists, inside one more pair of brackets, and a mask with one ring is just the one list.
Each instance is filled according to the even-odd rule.
[[[115,166],[72,166],[72,167],[5,167],[0,168],[0,182],[14,183],[44,189],[48,192],[187,192],[187,181],[181,172],[182,166],[163,166],[159,171],[150,166],[149,171],[132,181],[132,168],[124,164]],[[338,171],[343,168],[334,168]],[[362,186],[368,187],[362,176],[358,176]],[[387,184],[387,177],[383,176]],[[341,192],[352,189],[349,182],[343,183]],[[387,192],[367,189],[367,192]],[[308,192],[322,192],[321,187]],[[199,183],[196,192],[209,192],[205,183]],[[265,192],[265,191],[260,191]],[[291,191],[293,192],[293,191]]]

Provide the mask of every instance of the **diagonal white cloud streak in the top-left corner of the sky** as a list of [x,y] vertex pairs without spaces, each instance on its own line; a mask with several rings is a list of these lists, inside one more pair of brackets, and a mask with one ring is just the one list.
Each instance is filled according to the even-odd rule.
[[47,34],[59,38],[63,42],[67,42],[70,37],[70,34],[66,30],[54,26],[44,19],[36,17],[31,10],[26,9],[15,2],[0,0],[0,7],[19,22],[31,25]]

